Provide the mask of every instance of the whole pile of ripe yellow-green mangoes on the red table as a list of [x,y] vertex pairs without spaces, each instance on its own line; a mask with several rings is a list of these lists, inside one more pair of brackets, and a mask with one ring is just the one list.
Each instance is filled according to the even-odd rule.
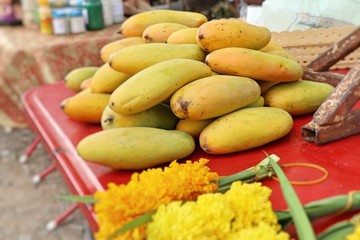
[[70,118],[101,124],[79,142],[79,155],[114,169],[183,159],[196,146],[230,154],[265,145],[333,91],[303,80],[267,28],[240,19],[153,10],[119,32],[124,38],[101,49],[102,66],[66,75],[76,94],[61,103]]

